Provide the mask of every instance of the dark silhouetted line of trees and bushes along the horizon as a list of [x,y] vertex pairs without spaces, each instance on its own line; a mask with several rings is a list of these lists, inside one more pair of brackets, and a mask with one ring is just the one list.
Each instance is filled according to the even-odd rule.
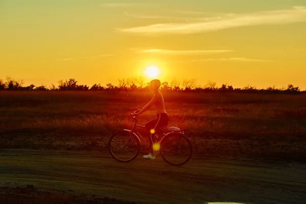
[[[94,84],[91,87],[87,85],[78,84],[75,79],[60,80],[58,86],[52,84],[47,87],[44,85],[35,86],[31,84],[30,86],[23,86],[24,82],[22,80],[14,80],[11,77],[7,77],[6,80],[0,79],[0,90],[9,91],[106,91],[106,92],[116,92],[116,91],[148,91],[149,83],[145,82],[143,77],[129,78],[129,79],[118,79],[118,85],[106,84],[106,86],[101,86],[100,84]],[[231,85],[223,84],[221,87],[217,87],[215,82],[208,82],[205,86],[197,86],[196,80],[183,80],[182,86],[181,82],[173,78],[170,83],[163,82],[161,84],[161,90],[164,92],[221,92],[221,93],[306,93],[301,91],[299,87],[295,87],[289,84],[287,88],[277,89],[274,87],[268,87],[266,89],[257,89],[253,86],[246,86],[243,88],[234,88]]]

